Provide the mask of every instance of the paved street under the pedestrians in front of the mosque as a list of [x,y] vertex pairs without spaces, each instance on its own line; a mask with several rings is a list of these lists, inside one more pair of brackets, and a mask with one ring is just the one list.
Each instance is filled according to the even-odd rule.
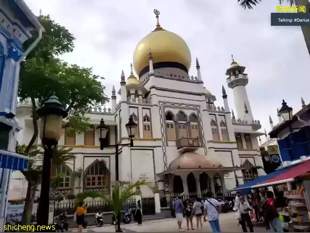
[[[208,222],[203,222],[202,230],[196,229],[196,219],[193,219],[194,229],[185,232],[212,232]],[[220,226],[222,232],[242,232],[241,227],[238,226],[238,222],[235,219],[234,213],[220,214]],[[183,229],[186,229],[186,220],[182,223]],[[138,226],[136,223],[121,225],[123,232],[178,232],[178,227],[175,219],[167,218],[164,220],[154,220],[145,222],[142,226]],[[266,232],[265,228],[255,227],[255,232]],[[71,232],[77,232],[73,229]],[[89,227],[83,232],[115,232],[115,227],[106,225],[103,227]]]

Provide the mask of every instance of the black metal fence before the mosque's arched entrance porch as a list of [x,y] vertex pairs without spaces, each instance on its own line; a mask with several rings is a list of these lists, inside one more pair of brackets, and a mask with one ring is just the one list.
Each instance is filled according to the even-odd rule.
[[[170,204],[177,198],[179,193],[162,193],[160,196],[160,207],[170,207]],[[199,197],[200,199],[203,199],[205,197],[212,197],[215,199],[219,198],[225,198],[225,199],[231,199],[234,195],[232,195],[230,192],[221,192],[221,193],[203,193],[203,194],[197,194],[197,193],[190,193],[188,195],[181,195],[182,199],[185,201],[186,199],[189,199],[191,201],[194,201],[196,197]]]

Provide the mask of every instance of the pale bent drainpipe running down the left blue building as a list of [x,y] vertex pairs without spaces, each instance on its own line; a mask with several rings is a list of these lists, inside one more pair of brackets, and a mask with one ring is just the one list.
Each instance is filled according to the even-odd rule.
[[42,39],[42,31],[43,27],[39,29],[38,32],[38,38],[29,46],[29,48],[24,52],[24,54],[18,59],[18,61],[15,63],[15,70],[14,70],[14,89],[13,89],[13,96],[12,96],[12,101],[14,104],[11,105],[11,112],[15,113],[15,105],[16,105],[16,100],[17,100],[17,92],[18,92],[18,76],[19,76],[19,68],[20,68],[20,63],[24,58],[30,53],[31,50],[38,44],[38,42]]

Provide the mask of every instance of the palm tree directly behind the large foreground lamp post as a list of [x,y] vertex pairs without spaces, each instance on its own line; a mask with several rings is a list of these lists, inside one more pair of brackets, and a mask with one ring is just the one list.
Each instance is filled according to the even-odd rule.
[[[41,183],[42,175],[42,163],[38,164],[38,161],[42,160],[43,152],[40,150],[40,146],[32,145],[29,152],[27,153],[26,145],[16,144],[16,152],[30,157],[29,166],[27,171],[21,171],[24,175],[24,179],[28,181],[27,194],[24,202],[24,212],[22,217],[22,223],[29,225],[32,215],[32,207],[35,199],[35,193],[38,185]],[[54,151],[52,166],[59,166],[62,163],[66,163],[69,160],[75,158],[74,155],[70,154],[72,148],[57,148]]]

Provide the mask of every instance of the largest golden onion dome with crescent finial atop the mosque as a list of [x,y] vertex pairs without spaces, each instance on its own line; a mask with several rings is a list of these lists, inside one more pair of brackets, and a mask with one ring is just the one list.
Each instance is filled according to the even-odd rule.
[[[158,19],[159,11],[155,14]],[[177,34],[162,29],[158,21],[156,29],[144,37],[135,48],[133,64],[139,77],[148,71],[141,72],[149,65],[150,52],[154,68],[156,63],[162,62],[179,63],[187,71],[191,66],[192,57],[185,41]]]

